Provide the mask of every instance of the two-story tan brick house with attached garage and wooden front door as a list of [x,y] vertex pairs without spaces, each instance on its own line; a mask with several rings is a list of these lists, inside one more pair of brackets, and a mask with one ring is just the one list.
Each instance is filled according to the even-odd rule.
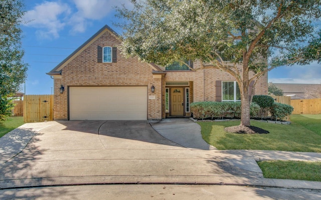
[[[119,35],[105,25],[47,73],[54,78],[55,120],[190,116],[191,102],[239,100],[236,81],[227,72],[139,62],[123,57],[120,43]],[[198,61],[191,65],[200,68]],[[267,89],[264,75],[251,95],[267,94]]]

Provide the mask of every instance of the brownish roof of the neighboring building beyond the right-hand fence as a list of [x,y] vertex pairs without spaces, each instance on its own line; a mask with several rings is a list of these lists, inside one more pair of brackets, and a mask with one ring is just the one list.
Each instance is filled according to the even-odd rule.
[[283,90],[284,96],[291,96],[291,99],[316,98],[311,96],[309,91],[321,88],[321,84],[299,84],[299,83],[273,83]]

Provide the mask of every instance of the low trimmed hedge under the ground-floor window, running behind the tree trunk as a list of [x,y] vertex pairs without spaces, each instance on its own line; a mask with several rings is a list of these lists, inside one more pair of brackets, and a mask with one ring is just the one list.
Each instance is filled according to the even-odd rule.
[[[251,103],[250,115],[257,116],[260,106]],[[241,102],[217,102],[204,101],[191,103],[191,112],[194,118],[223,118],[223,117],[241,117]]]

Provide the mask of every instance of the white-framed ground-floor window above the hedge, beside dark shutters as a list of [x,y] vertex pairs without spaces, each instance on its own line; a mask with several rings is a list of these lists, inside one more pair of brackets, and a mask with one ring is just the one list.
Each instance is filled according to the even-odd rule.
[[222,81],[222,101],[240,101],[241,92],[236,81]]

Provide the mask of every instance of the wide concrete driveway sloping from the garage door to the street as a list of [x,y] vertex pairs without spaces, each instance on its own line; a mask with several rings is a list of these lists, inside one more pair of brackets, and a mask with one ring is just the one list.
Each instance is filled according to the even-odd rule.
[[195,183],[260,177],[190,149],[148,121],[54,121],[0,165],[0,188],[89,183]]

